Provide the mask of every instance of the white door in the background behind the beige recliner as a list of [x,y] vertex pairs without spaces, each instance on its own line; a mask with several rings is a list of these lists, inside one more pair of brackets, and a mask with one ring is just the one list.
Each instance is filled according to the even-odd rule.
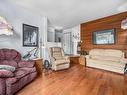
[[63,36],[64,52],[65,54],[71,54],[71,32],[64,33]]

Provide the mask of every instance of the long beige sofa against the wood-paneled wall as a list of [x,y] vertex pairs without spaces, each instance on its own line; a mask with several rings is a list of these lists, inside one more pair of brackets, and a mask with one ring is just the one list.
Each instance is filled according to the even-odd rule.
[[86,56],[86,66],[124,74],[124,53],[113,49],[92,49]]

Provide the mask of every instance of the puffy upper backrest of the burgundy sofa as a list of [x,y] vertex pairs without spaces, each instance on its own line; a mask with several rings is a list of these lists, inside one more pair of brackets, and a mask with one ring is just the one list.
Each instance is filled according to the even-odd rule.
[[0,49],[0,60],[20,61],[21,54],[14,49]]

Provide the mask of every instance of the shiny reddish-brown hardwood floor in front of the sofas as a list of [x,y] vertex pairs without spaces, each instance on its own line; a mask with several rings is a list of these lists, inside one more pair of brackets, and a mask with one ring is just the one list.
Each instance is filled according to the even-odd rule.
[[16,95],[127,95],[127,75],[75,64],[43,74]]

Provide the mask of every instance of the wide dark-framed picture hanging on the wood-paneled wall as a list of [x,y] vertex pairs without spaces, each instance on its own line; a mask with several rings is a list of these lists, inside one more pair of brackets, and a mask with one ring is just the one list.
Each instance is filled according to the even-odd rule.
[[93,44],[115,44],[115,29],[93,32]]

